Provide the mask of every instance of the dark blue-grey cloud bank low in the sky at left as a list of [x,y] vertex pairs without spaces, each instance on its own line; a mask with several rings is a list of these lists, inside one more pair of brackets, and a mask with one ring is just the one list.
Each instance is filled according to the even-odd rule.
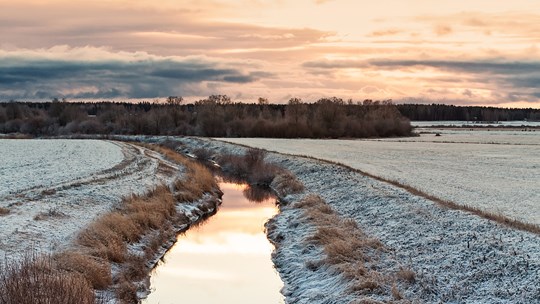
[[3,58],[0,71],[0,99],[153,98],[183,94],[182,88],[191,84],[248,83],[267,75],[262,71],[223,68],[212,62],[172,60],[79,62]]

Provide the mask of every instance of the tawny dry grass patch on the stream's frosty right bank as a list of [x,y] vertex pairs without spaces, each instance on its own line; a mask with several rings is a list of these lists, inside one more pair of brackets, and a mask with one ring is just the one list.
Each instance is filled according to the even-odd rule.
[[316,227],[307,241],[322,246],[325,253],[321,261],[308,267],[330,266],[350,281],[351,291],[357,294],[394,294],[392,284],[397,277],[376,270],[376,257],[387,251],[379,240],[366,236],[354,220],[340,217],[319,196],[308,195],[293,207],[302,209],[304,219]]

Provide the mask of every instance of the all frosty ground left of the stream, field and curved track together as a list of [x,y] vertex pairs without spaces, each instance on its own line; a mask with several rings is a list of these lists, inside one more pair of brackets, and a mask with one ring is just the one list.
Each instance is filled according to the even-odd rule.
[[50,252],[122,197],[182,169],[148,149],[99,140],[0,140],[0,258]]

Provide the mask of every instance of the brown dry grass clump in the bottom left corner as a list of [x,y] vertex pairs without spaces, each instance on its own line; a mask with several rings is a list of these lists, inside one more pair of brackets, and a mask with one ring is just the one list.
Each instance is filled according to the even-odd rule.
[[48,255],[26,255],[0,265],[0,303],[94,304],[90,283],[74,272],[59,270]]

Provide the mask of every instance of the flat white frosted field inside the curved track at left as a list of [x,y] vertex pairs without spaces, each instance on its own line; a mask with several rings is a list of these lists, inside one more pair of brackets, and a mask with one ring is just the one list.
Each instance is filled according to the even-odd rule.
[[105,141],[0,139],[0,197],[112,168],[121,149]]

